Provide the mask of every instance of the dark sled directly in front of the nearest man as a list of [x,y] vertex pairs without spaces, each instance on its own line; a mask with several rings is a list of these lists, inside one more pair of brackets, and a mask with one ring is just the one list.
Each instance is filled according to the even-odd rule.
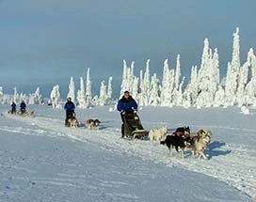
[[149,132],[144,130],[140,118],[136,113],[121,114],[123,124],[121,125],[121,136],[126,139],[148,138]]

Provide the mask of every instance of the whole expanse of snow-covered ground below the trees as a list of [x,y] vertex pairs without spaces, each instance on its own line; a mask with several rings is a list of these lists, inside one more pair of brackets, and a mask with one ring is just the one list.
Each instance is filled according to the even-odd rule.
[[120,114],[110,107],[76,110],[81,122],[102,121],[89,131],[64,127],[62,109],[28,105],[35,117],[18,117],[0,105],[0,201],[256,200],[255,109],[140,109],[147,130],[213,132],[209,160],[189,151],[182,160],[158,142],[120,138]]

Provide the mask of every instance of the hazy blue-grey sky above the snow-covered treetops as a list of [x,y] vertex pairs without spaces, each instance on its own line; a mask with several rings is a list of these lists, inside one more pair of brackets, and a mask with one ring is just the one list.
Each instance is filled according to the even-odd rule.
[[119,90],[123,59],[136,61],[138,72],[150,58],[161,77],[164,60],[174,68],[177,54],[189,76],[200,66],[205,38],[225,74],[236,26],[242,63],[255,49],[254,8],[248,0],[0,0],[0,86],[50,92],[68,87],[71,76],[79,83],[90,68],[94,87],[113,75]]

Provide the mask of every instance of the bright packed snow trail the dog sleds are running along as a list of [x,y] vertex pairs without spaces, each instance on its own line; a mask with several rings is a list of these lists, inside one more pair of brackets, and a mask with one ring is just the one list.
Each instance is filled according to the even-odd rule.
[[[84,127],[77,129],[66,128],[62,120],[53,117],[7,117],[26,122],[35,128],[34,131],[18,128],[15,129],[17,132],[23,131],[27,134],[45,135],[45,133],[51,131],[52,135],[68,136],[76,141],[88,142],[97,147],[100,146],[110,152],[119,152],[140,157],[147,161],[150,160],[154,163],[164,163],[168,166],[185,168],[225,181],[252,198],[256,198],[255,147],[241,144],[226,144],[216,140],[216,133],[232,131],[234,134],[233,131],[236,130],[234,128],[223,130],[221,127],[213,126],[215,132],[213,132],[212,142],[206,151],[210,158],[209,161],[194,159],[189,151],[185,151],[185,159],[182,160],[176,153],[173,154],[172,158],[169,158],[168,148],[160,146],[159,143],[121,139],[120,129],[114,127],[95,131],[85,129]],[[14,131],[8,128],[2,130]],[[241,130],[237,130],[237,132],[241,132]],[[248,130],[245,129],[244,132],[248,132]]]

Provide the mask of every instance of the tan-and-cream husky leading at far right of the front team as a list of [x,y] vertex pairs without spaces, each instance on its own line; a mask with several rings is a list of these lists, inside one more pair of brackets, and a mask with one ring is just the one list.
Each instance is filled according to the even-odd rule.
[[199,159],[202,157],[203,159],[208,159],[203,151],[208,147],[211,142],[212,132],[207,131],[205,129],[200,129],[197,132],[196,136],[192,137],[191,145],[188,147],[189,150],[192,151],[192,155],[198,155]]

